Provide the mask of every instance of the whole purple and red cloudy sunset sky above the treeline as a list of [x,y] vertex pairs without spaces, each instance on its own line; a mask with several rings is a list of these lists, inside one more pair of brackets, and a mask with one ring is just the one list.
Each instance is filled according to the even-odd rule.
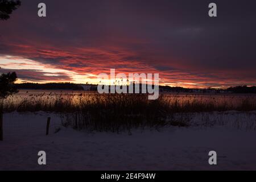
[[256,85],[255,1],[21,1],[0,22],[0,72],[18,82],[97,83],[115,68],[161,85]]

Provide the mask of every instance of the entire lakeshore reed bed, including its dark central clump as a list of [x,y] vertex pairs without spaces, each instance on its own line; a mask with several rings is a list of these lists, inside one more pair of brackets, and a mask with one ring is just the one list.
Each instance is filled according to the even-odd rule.
[[161,95],[148,100],[147,94],[42,93],[10,96],[3,110],[60,113],[64,126],[75,129],[119,132],[134,127],[188,126],[189,115],[176,113],[256,110],[255,96]]

